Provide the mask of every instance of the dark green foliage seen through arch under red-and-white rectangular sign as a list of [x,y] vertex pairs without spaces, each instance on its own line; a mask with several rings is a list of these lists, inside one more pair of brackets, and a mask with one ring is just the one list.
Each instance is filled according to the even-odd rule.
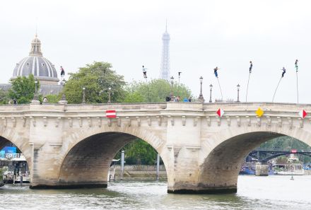
[[[127,165],[154,165],[157,157],[155,149],[146,141],[137,139],[124,146],[124,159]],[[115,156],[120,158],[120,152]]]

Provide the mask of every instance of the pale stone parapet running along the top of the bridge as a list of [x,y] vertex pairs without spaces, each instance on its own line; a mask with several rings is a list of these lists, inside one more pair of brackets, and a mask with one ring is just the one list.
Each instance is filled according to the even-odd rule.
[[81,111],[81,110],[182,110],[196,112],[216,112],[222,108],[227,112],[244,112],[245,115],[254,114],[254,111],[261,107],[264,112],[299,112],[306,110],[311,112],[310,104],[294,103],[105,103],[105,104],[42,104],[42,105],[0,105],[0,112],[18,112],[27,110],[42,111]]

